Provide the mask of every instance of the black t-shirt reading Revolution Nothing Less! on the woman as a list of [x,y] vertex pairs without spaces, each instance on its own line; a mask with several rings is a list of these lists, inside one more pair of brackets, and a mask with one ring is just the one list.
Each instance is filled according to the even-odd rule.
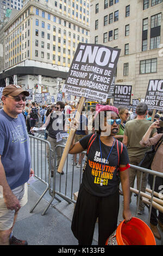
[[[80,144],[83,149],[87,149],[87,145],[91,135],[87,135],[80,139]],[[120,143],[120,142],[119,142]],[[120,148],[120,147],[118,147]],[[101,157],[102,150],[102,157]],[[95,140],[91,144],[89,153],[87,155],[86,166],[83,172],[82,185],[87,192],[98,197],[107,197],[110,194],[114,194],[118,190],[119,178],[118,178],[118,153],[117,143],[112,147],[111,154],[106,161],[111,147],[101,142],[101,150],[99,145],[99,135],[96,136]],[[106,162],[106,163],[105,163]],[[123,144],[122,153],[120,151],[120,162],[119,164],[128,164],[129,157],[127,148]],[[105,164],[105,165],[104,165]],[[104,166],[104,167],[103,167]],[[103,168],[103,174],[102,174]],[[103,186],[100,185],[101,179],[103,179]]]

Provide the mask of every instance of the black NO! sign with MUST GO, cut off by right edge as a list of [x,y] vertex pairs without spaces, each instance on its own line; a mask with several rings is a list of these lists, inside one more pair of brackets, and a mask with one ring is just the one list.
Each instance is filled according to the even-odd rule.
[[163,80],[149,80],[145,103],[148,108],[163,110]]

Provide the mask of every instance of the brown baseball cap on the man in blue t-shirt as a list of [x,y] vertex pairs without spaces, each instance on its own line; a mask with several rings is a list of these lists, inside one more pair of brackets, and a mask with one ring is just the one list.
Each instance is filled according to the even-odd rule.
[[27,90],[23,90],[21,86],[10,84],[3,89],[2,95],[5,96],[9,94],[11,96],[17,96],[20,93],[24,93],[24,95],[29,96],[29,92],[27,92]]

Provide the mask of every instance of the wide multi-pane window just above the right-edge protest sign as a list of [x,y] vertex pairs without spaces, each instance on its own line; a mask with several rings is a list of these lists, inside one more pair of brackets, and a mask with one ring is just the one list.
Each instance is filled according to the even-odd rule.
[[140,74],[148,74],[156,72],[157,70],[157,59],[146,59],[140,60]]

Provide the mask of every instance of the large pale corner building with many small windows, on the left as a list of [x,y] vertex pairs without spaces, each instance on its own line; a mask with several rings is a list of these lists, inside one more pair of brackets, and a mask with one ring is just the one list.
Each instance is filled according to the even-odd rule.
[[78,43],[89,42],[89,8],[89,0],[24,1],[4,28],[5,66],[0,78],[17,75],[18,83],[28,88],[51,88],[58,77],[64,81]]

